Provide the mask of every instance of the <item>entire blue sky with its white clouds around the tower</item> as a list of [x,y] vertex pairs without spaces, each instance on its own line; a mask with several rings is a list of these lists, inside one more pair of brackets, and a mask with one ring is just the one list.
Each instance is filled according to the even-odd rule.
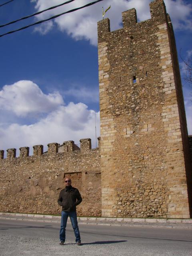
[[[0,4],[6,2],[0,0]],[[0,7],[0,24],[32,14],[64,0],[14,0]],[[45,12],[0,28],[0,34],[32,22],[83,6],[90,0]],[[150,18],[150,0],[104,0],[0,38],[0,148],[18,148],[50,142],[92,138],[95,117],[99,136],[97,21],[102,6],[111,9],[111,30],[121,27],[121,12],[136,8],[138,22]],[[165,0],[178,52],[192,55],[192,2]],[[179,55],[179,54],[178,54]],[[183,67],[179,56],[180,66]],[[184,71],[181,71],[184,78]],[[192,88],[183,80],[188,133],[192,134]],[[96,115],[95,115],[96,112]]]

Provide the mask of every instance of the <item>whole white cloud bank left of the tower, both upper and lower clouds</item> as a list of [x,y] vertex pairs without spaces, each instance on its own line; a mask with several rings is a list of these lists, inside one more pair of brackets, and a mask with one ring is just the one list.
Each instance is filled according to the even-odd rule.
[[[38,122],[23,125],[19,122],[21,118],[15,118],[15,123],[8,124],[2,111],[0,118],[4,122],[0,125],[0,149],[6,151],[7,148],[17,148],[18,155],[18,148],[29,146],[32,154],[32,146],[36,144],[43,144],[46,150],[48,143],[61,144],[66,140],[74,140],[78,144],[81,138],[92,138],[92,146],[95,147],[95,112],[88,110],[83,103],[70,102],[63,106],[59,93],[46,95],[33,82],[19,81],[4,86],[0,92],[0,104],[1,108],[5,107],[15,117],[38,111],[47,112],[46,117],[39,118]],[[99,112],[96,113],[96,126],[99,136]]]

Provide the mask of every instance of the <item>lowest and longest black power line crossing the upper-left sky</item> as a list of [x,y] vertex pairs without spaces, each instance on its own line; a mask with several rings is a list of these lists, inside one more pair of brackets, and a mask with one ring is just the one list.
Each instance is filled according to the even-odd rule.
[[89,3],[89,4],[86,4],[86,5],[84,5],[84,6],[81,6],[81,7],[78,7],[78,8],[74,8],[74,9],[72,9],[72,10],[69,10],[69,11],[67,11],[67,12],[63,12],[63,13],[61,13],[61,14],[57,14],[57,15],[52,16],[52,17],[50,17],[50,18],[48,18],[48,19],[46,19],[46,20],[40,20],[40,21],[35,22],[35,23],[33,23],[33,24],[30,24],[30,25],[28,25],[28,26],[24,26],[24,27],[22,27],[22,28],[18,28],[18,29],[16,29],[16,30],[9,31],[9,32],[4,33],[4,34],[0,34],[0,37],[5,36],[5,35],[8,35],[8,34],[12,34],[12,33],[14,33],[14,32],[17,32],[17,31],[20,31],[20,30],[29,28],[29,27],[34,26],[34,25],[37,25],[37,24],[41,24],[41,23],[46,22],[46,21],[48,21],[48,20],[55,19],[55,18],[57,18],[57,17],[59,17],[59,16],[62,16],[62,15],[64,15],[64,14],[67,14],[67,13],[70,13],[70,12],[75,12],[75,11],[77,11],[77,10],[80,10],[80,9],[82,9],[82,8],[91,6],[91,5],[96,4],[96,3],[98,3],[98,2],[101,2],[101,1],[104,1],[104,0],[97,0],[97,1],[91,2],[91,3]]

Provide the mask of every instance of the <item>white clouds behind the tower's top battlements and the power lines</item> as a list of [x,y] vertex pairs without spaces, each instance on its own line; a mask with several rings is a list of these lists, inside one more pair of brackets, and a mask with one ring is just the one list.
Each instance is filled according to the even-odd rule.
[[[55,6],[62,3],[62,0],[36,0],[36,10],[44,10],[50,6]],[[54,16],[56,14],[65,12],[67,10],[84,6],[88,0],[78,0],[59,8],[55,8],[48,12],[38,15],[38,20]],[[110,18],[111,30],[120,28],[122,22],[121,12],[136,8],[138,21],[150,18],[149,3],[150,0],[106,0],[99,2],[88,8],[83,8],[70,14],[65,14],[59,18],[54,19],[54,24],[58,26],[61,31],[67,32],[75,40],[86,39],[90,40],[93,45],[97,44],[97,22],[102,20],[102,6],[107,8],[111,5],[110,10],[106,13],[106,17]],[[172,23],[175,29],[192,29],[191,12],[192,4],[186,3],[184,0],[165,0],[166,10],[170,14]],[[52,26],[44,26],[43,24],[36,28],[42,34],[45,34]],[[46,31],[47,30],[47,31]]]

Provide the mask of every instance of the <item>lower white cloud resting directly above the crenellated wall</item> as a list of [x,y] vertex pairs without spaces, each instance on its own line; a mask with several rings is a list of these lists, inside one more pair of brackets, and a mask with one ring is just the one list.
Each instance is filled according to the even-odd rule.
[[[96,113],[97,136],[99,130],[99,112]],[[81,138],[92,138],[92,147],[95,147],[95,112],[88,110],[83,103],[70,103],[68,106],[60,106],[42,118],[39,122],[31,125],[11,124],[5,129],[0,128],[1,148],[30,147],[36,144],[46,145],[51,142],[74,140],[79,144]],[[17,154],[19,154],[17,150]]]

